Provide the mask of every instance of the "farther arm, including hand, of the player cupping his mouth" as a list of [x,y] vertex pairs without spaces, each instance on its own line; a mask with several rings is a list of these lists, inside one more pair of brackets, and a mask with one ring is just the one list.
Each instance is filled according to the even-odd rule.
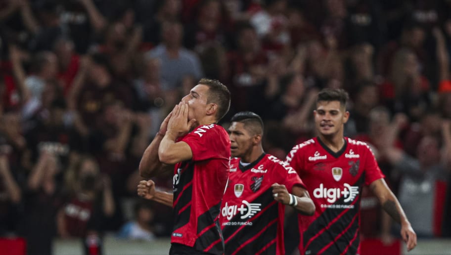
[[161,140],[166,134],[168,128],[169,119],[171,119],[172,112],[166,116],[163,123],[160,126],[160,130],[153,138],[152,142],[147,146],[139,162],[139,175],[144,178],[150,178],[153,176],[161,175],[164,172],[168,172],[171,165],[163,164],[158,157],[158,147]]

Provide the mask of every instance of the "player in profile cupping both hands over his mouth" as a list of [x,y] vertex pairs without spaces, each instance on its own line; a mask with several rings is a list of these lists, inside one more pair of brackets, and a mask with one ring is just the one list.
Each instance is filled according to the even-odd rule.
[[[174,208],[169,254],[223,254],[219,223],[226,188],[230,140],[216,123],[230,105],[230,92],[216,80],[201,79],[166,117],[139,164],[143,177],[171,172],[173,194],[155,200]],[[193,127],[195,127],[193,129]]]

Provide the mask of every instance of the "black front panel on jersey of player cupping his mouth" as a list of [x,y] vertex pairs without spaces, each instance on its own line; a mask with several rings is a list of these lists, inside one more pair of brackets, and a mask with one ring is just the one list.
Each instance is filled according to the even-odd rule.
[[[186,225],[191,216],[191,205],[188,206],[188,204],[192,200],[193,166],[192,164],[188,165],[186,170],[182,172],[179,179],[178,191],[174,193],[174,230]],[[189,186],[185,187],[188,183],[190,183]],[[183,209],[182,212],[180,212],[181,209]]]

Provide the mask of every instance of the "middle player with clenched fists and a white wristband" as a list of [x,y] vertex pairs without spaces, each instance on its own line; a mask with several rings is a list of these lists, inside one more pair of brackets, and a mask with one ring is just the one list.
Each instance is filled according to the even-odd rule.
[[[225,254],[285,254],[285,205],[313,215],[315,206],[296,172],[262,147],[263,122],[252,112],[240,112],[229,127],[230,174],[221,207]],[[141,181],[138,194],[158,202],[151,180]],[[166,193],[167,194],[167,193]],[[165,203],[170,205],[169,203]]]

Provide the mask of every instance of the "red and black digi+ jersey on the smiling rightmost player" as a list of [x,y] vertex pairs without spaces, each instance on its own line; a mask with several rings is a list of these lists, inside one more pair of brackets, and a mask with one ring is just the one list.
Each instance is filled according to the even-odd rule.
[[293,147],[286,162],[308,183],[316,211],[299,215],[301,254],[356,254],[363,185],[384,178],[371,149],[345,137],[338,152],[317,137]]

